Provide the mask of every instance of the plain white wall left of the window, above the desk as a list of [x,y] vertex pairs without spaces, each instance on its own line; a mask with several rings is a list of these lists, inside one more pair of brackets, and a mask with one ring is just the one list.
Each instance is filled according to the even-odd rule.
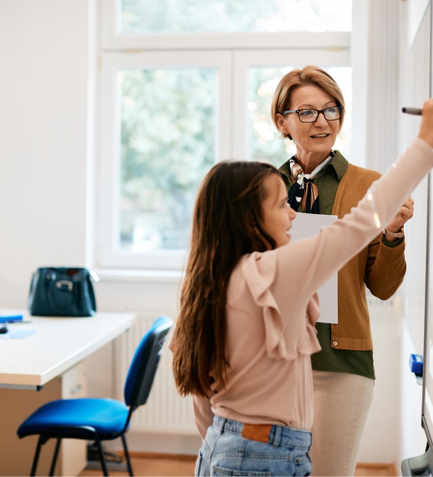
[[0,2],[0,297],[86,262],[88,0]]

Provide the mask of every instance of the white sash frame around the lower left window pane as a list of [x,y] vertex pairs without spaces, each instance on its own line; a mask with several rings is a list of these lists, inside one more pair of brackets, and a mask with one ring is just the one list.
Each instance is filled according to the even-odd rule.
[[[218,71],[220,92],[217,116],[226,118],[216,128],[216,157],[229,157],[231,123],[230,55],[227,52],[139,52],[104,53],[100,66],[99,102],[99,180],[98,209],[101,212],[100,247],[97,260],[102,267],[179,269],[185,260],[185,251],[152,251],[137,253],[120,251],[117,246],[119,215],[120,172],[120,108],[117,104],[117,71],[127,68],[154,67],[215,67]],[[161,131],[161,135],[169,131]],[[155,158],[158,160],[158,158]]]

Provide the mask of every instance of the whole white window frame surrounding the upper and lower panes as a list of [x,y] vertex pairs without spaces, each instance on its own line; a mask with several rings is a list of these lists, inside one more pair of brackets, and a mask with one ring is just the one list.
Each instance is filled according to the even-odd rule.
[[[250,66],[320,64],[350,66],[349,32],[238,33],[204,35],[119,35],[115,31],[116,0],[100,2],[100,71],[98,119],[98,268],[180,270],[186,251],[120,251],[119,217],[120,124],[116,104],[117,70],[146,67],[201,67],[218,70],[216,161],[248,158],[246,78]],[[162,131],[161,134],[167,134]]]

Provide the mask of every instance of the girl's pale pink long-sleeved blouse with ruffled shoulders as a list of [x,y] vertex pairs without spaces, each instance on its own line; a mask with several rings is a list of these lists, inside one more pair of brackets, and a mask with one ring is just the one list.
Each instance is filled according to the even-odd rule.
[[343,219],[318,235],[242,257],[227,292],[226,387],[215,382],[210,399],[193,396],[202,438],[214,413],[311,429],[310,354],[321,349],[316,291],[395,217],[431,167],[433,151],[417,138]]

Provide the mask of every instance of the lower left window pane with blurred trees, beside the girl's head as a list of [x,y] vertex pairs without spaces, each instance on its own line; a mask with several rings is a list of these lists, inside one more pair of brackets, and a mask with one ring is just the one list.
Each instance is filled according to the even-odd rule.
[[215,68],[124,69],[120,247],[183,250],[215,156]]

